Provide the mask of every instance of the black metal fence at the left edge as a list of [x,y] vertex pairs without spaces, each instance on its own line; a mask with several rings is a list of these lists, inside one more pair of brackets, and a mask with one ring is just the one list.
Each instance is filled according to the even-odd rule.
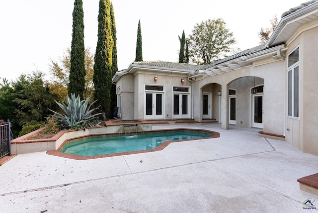
[[11,129],[9,120],[6,124],[0,125],[0,158],[11,155]]

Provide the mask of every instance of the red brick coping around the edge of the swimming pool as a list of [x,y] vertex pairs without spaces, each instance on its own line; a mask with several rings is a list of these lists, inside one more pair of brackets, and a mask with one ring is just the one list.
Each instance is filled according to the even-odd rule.
[[[157,152],[160,150],[163,150],[165,147],[167,147],[170,143],[176,143],[176,142],[183,142],[183,141],[192,141],[192,140],[202,140],[202,139],[212,139],[212,138],[218,138],[220,137],[220,133],[216,131],[211,131],[211,130],[204,130],[204,129],[189,129],[189,128],[177,128],[177,129],[160,129],[160,130],[150,130],[147,132],[158,132],[158,131],[168,131],[168,130],[191,130],[191,131],[205,131],[209,133],[213,133],[213,136],[211,137],[201,137],[201,138],[193,138],[193,139],[184,139],[184,140],[170,140],[170,141],[164,141],[161,143],[158,147],[155,149],[148,149],[148,150],[139,150],[139,151],[131,151],[131,152],[120,152],[120,153],[113,153],[113,154],[102,154],[102,155],[92,155],[92,156],[80,156],[80,155],[74,155],[74,154],[68,154],[64,152],[60,152],[61,148],[63,145],[73,139],[77,139],[79,137],[75,138],[68,138],[66,139],[61,146],[57,150],[53,151],[47,151],[46,153],[48,155],[54,155],[57,157],[63,157],[63,158],[69,158],[69,159],[74,159],[74,160],[88,160],[88,159],[96,159],[96,158],[106,158],[106,157],[115,157],[115,156],[122,156],[122,155],[131,155],[131,154],[139,154],[139,153],[147,153],[147,152]],[[132,132],[135,133],[135,132]],[[113,133],[109,133],[113,134]],[[92,136],[92,135],[98,135],[98,134],[91,134],[91,135],[85,135],[85,136]],[[99,134],[102,135],[102,134]]]

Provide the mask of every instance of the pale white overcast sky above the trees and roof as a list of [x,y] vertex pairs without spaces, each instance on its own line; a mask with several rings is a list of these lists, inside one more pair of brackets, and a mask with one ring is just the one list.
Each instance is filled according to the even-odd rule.
[[[84,44],[95,53],[99,0],[82,0]],[[307,0],[112,0],[117,30],[118,69],[134,62],[138,21],[141,22],[143,60],[178,62],[184,30],[197,23],[223,18],[241,50],[259,45],[261,27],[270,19]],[[74,0],[0,0],[0,81],[41,71],[71,48]]]

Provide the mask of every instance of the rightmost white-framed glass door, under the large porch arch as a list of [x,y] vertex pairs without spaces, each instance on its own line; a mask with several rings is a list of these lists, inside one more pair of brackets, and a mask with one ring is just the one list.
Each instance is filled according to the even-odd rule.
[[263,95],[253,95],[252,126],[263,128]]

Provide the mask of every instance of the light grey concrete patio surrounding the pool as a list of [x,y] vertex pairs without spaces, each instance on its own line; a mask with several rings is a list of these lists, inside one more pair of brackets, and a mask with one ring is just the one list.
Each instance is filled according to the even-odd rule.
[[0,212],[315,211],[303,209],[305,200],[315,205],[318,197],[301,191],[297,179],[318,172],[318,156],[259,137],[254,128],[153,126],[165,128],[208,129],[221,136],[92,160],[17,155],[0,166]]

